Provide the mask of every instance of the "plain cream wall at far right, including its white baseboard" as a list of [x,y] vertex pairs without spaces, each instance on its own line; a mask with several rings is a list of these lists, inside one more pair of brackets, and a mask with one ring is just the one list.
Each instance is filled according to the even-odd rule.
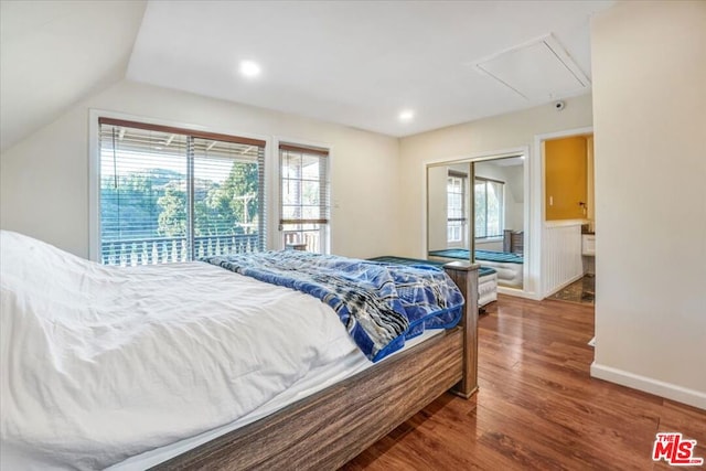
[[706,2],[591,25],[593,375],[706,408]]

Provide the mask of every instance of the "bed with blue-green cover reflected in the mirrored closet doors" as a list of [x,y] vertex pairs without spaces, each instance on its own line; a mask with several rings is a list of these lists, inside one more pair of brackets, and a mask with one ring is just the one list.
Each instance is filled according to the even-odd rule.
[[[435,260],[469,260],[467,248],[448,248],[430,250],[429,257]],[[475,263],[481,267],[492,268],[498,272],[498,283],[509,288],[522,288],[524,258],[507,251],[475,250]]]

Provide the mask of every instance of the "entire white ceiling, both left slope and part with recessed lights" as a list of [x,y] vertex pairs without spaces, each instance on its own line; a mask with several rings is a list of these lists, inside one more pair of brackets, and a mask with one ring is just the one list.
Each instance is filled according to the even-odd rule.
[[125,76],[391,136],[500,115],[590,92],[612,3],[2,0],[2,148]]

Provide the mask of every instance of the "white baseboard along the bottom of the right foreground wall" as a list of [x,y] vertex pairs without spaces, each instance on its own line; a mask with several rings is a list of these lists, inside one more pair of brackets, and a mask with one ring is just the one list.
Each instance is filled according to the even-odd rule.
[[706,394],[695,389],[599,365],[596,362],[591,363],[591,376],[706,410]]

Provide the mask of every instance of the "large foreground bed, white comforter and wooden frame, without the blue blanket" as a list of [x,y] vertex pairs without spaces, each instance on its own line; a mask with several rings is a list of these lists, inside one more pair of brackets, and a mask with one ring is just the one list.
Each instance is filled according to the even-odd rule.
[[[0,248],[3,469],[335,469],[443,392],[477,390],[477,266],[467,263],[445,266],[467,300],[459,325],[371,363],[329,306],[214,265],[111,269],[7,232]],[[271,318],[269,328],[253,330],[248,317]],[[248,353],[234,355],[240,343]],[[226,374],[248,355],[285,371]],[[339,377],[317,376],[340,360]],[[233,406],[255,389],[271,397]],[[290,400],[274,406],[279,390]],[[89,439],[76,446],[81,433]]]

